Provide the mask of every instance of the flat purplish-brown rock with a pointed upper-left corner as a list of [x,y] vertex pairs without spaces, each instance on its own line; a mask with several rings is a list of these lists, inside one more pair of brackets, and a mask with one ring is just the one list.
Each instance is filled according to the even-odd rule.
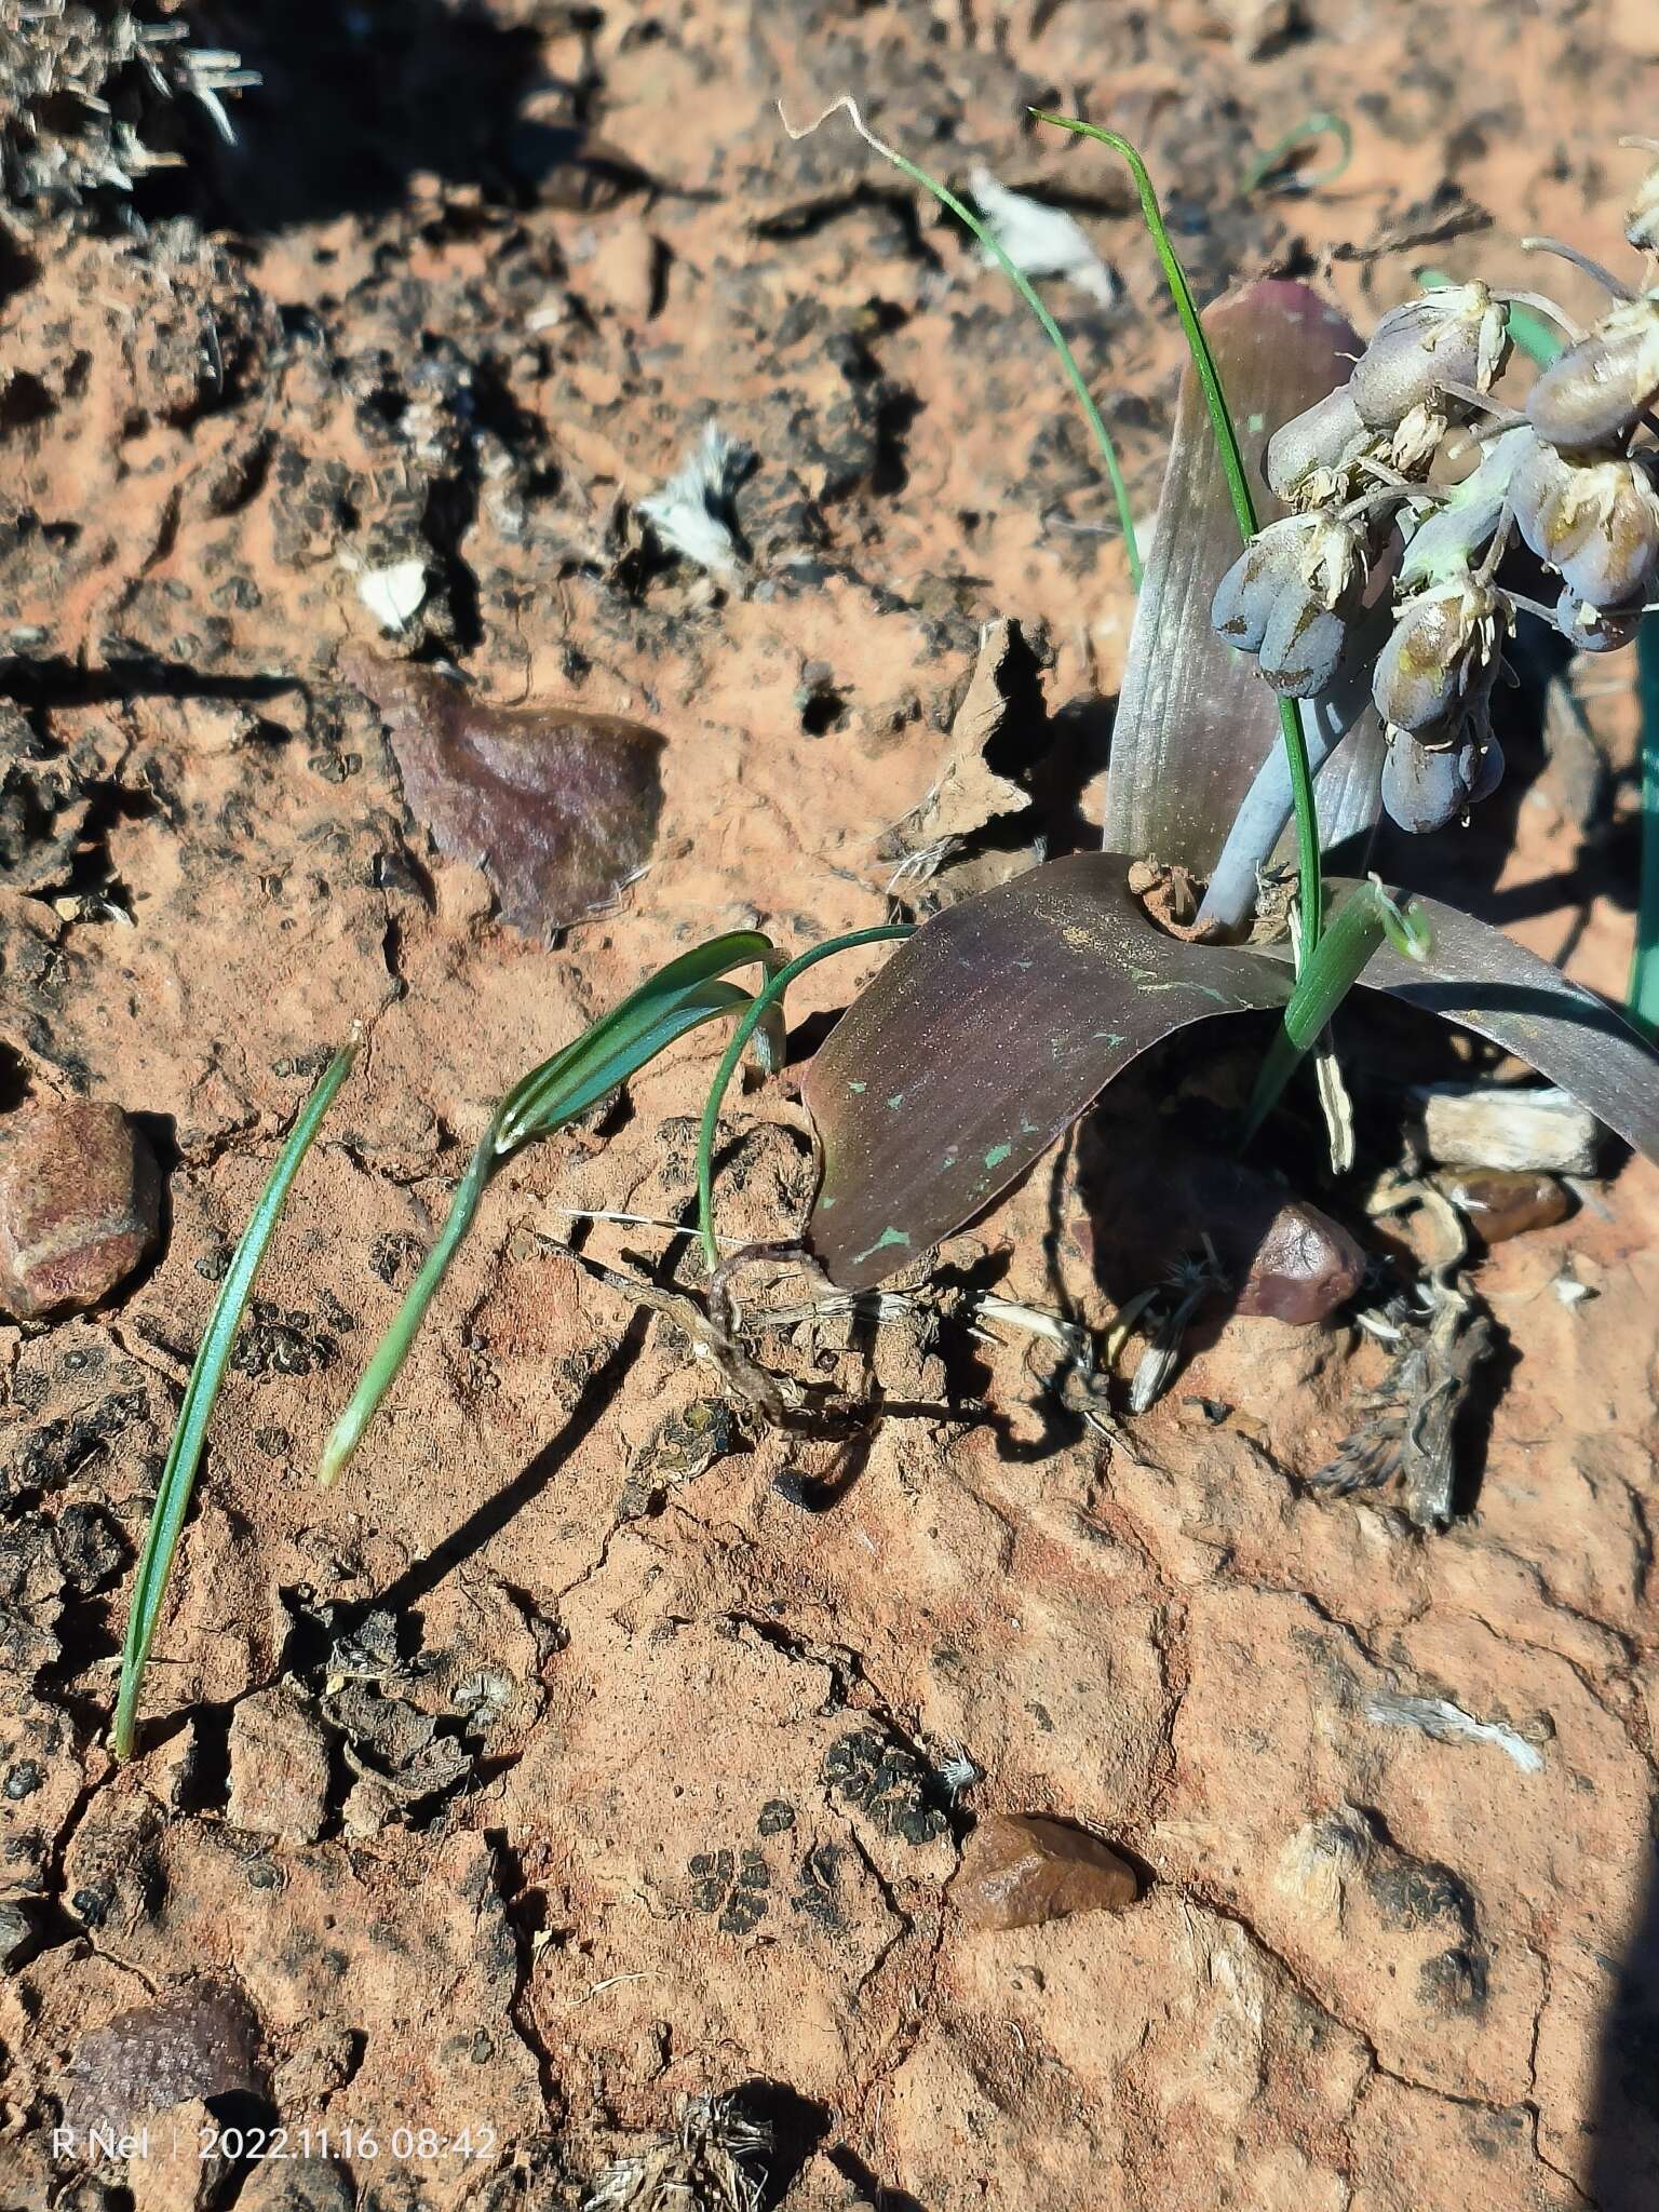
[[661,812],[655,730],[580,706],[482,706],[363,646],[341,650],[341,675],[380,708],[438,852],[484,869],[513,929],[568,929],[644,872]]

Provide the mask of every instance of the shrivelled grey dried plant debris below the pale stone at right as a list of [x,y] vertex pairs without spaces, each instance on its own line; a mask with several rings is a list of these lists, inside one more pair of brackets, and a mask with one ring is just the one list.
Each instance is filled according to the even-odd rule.
[[1394,1345],[1389,1371],[1363,1400],[1365,1420],[1310,1480],[1332,1498],[1398,1480],[1409,1520],[1425,1533],[1447,1528],[1458,1491],[1458,1413],[1493,1352],[1491,1321],[1471,1292],[1427,1276],[1367,1325]]

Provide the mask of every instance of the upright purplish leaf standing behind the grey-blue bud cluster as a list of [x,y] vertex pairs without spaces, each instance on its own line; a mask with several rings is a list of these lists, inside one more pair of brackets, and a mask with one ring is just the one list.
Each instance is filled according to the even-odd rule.
[[[1358,336],[1307,285],[1281,279],[1263,279],[1219,301],[1203,327],[1234,414],[1256,513],[1270,522],[1285,509],[1261,473],[1267,438],[1343,383],[1360,352]],[[1237,551],[1228,482],[1203,392],[1188,367],[1113,728],[1102,843],[1188,867],[1201,878],[1212,872],[1256,770],[1279,745],[1279,703],[1256,664],[1221,644],[1210,626],[1214,588]],[[1310,703],[1305,714],[1310,734],[1325,730],[1325,750],[1358,714],[1318,779],[1327,849],[1369,836],[1376,825],[1383,730],[1360,695],[1349,708],[1340,726],[1323,701]]]

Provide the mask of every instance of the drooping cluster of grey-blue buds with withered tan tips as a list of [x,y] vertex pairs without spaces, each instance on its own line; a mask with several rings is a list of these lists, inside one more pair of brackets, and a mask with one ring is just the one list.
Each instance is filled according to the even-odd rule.
[[[1659,139],[1630,144],[1659,153]],[[1626,237],[1659,254],[1659,168]],[[1610,653],[1659,597],[1659,283],[1619,296],[1557,354],[1524,414],[1482,405],[1509,347],[1509,307],[1484,283],[1385,314],[1349,380],[1270,440],[1267,484],[1292,513],[1252,538],[1210,608],[1281,695],[1318,697],[1345,659],[1369,659],[1389,611],[1365,608],[1367,557],[1405,538],[1371,699],[1389,741],[1383,805],[1411,832],[1464,816],[1502,781],[1491,697],[1517,608],[1584,653]],[[1478,467],[1436,469],[1447,434],[1471,418],[1480,427],[1444,460],[1473,451]],[[1493,582],[1511,531],[1557,580],[1553,608]]]

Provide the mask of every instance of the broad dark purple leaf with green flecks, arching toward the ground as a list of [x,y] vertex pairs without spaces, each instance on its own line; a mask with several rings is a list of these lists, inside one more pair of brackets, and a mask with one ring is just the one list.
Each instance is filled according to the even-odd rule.
[[1128,869],[1082,852],[949,907],[836,1024],[803,1086],[823,1144],[810,1239],[836,1283],[920,1259],[1148,1046],[1285,1002],[1261,953],[1155,929]]

